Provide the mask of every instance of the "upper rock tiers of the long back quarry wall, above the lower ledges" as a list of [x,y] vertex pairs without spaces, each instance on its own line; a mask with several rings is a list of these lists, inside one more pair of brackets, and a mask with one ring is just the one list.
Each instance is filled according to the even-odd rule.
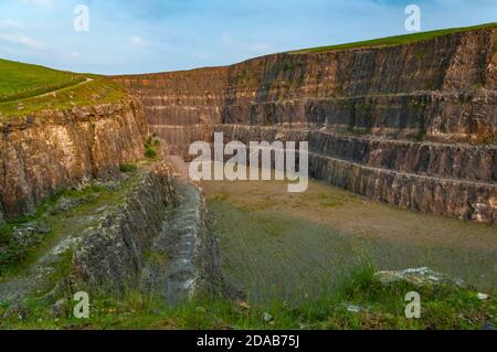
[[277,54],[115,79],[140,96],[152,128],[310,124],[485,141],[497,131],[496,38],[490,28],[406,45]]

